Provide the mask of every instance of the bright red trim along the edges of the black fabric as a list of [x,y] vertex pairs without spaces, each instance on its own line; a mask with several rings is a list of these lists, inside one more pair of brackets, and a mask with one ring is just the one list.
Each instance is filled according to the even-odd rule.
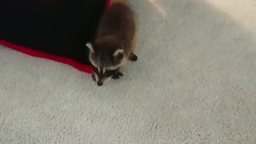
[[[106,0],[106,4],[105,4],[105,10],[107,9],[109,3],[111,0]],[[9,43],[7,41],[4,41],[3,39],[0,39],[0,44],[3,44],[7,47],[10,47],[11,49],[17,50],[19,52],[34,56],[34,57],[39,57],[39,58],[45,58],[45,59],[50,59],[50,60],[54,60],[54,61],[58,61],[58,62],[62,62],[62,63],[66,63],[70,66],[73,66],[74,68],[84,71],[86,73],[92,73],[92,67],[85,65],[83,63],[80,63],[76,60],[73,60],[71,58],[65,58],[65,57],[61,57],[59,55],[54,55],[54,54],[50,54],[50,53],[46,53],[46,52],[42,52],[42,51],[38,51],[38,50],[34,50],[25,46],[20,46],[17,44],[12,44]]]

